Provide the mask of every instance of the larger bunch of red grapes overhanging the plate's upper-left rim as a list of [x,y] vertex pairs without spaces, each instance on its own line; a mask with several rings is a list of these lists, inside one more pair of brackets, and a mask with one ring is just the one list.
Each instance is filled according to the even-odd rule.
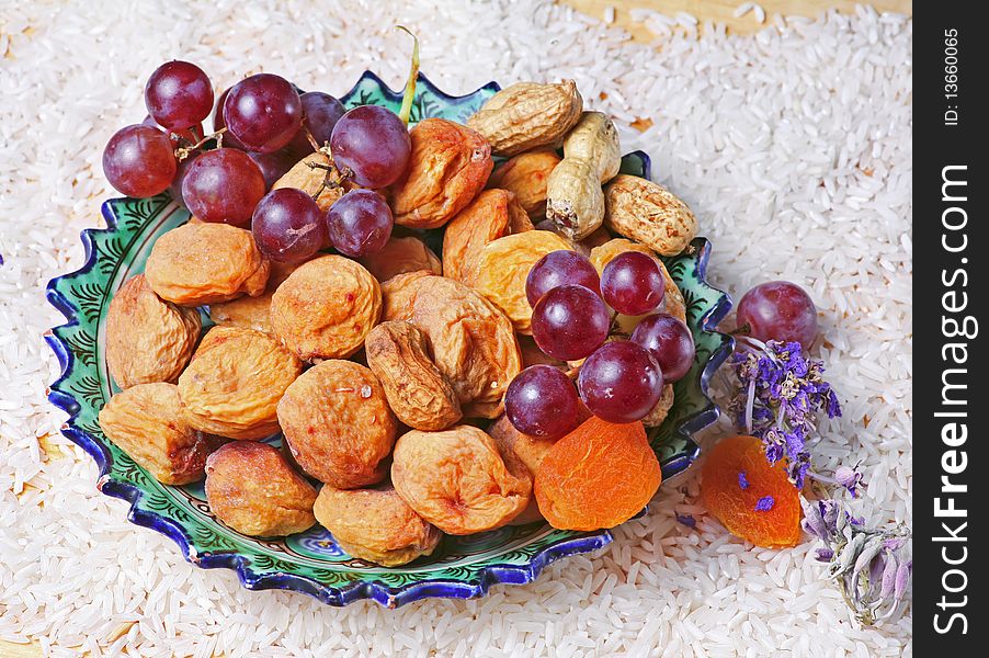
[[[103,171],[121,193],[148,197],[166,190],[203,222],[250,227],[269,258],[296,262],[334,247],[351,257],[373,253],[391,235],[391,209],[373,190],[406,170],[409,132],[394,112],[376,105],[345,111],[336,98],[300,92],[272,73],[245,78],[219,94],[214,133],[203,121],[213,86],[187,61],[169,61],[148,79],[148,117],[118,131],[103,151]],[[332,149],[336,175],[351,181],[328,212],[296,189],[272,184],[305,156]]]

